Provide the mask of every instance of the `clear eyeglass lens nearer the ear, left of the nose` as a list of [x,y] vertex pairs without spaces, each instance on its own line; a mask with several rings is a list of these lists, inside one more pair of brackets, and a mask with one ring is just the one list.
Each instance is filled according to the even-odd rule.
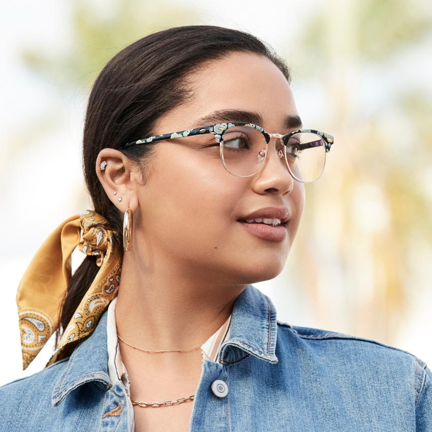
[[225,131],[221,156],[231,174],[244,177],[255,174],[264,163],[266,153],[267,144],[258,130],[235,126]]

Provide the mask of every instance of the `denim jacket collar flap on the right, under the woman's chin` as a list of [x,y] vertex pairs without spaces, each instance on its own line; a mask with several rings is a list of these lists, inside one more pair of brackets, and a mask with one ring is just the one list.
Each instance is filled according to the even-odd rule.
[[261,291],[249,285],[234,303],[230,338],[223,344],[219,360],[230,364],[251,354],[277,363],[276,334],[273,303]]

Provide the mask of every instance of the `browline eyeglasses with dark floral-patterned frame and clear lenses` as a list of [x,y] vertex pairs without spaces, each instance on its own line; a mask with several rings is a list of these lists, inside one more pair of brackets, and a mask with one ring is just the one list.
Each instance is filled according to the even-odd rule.
[[219,143],[222,164],[229,173],[237,177],[256,174],[264,164],[270,138],[277,138],[277,156],[286,164],[293,178],[303,183],[321,177],[326,153],[333,144],[331,135],[313,129],[299,129],[280,135],[269,134],[252,123],[233,122],[143,138],[121,146],[120,150],[155,141],[205,134],[214,135],[212,143]]

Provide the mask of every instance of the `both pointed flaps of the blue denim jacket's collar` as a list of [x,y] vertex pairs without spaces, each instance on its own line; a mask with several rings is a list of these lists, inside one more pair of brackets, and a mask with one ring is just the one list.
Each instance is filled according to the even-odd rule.
[[[267,296],[249,285],[234,303],[230,338],[221,347],[219,361],[232,364],[253,355],[277,363],[276,332],[273,304]],[[112,386],[108,376],[106,312],[95,331],[69,358],[65,372],[54,387],[52,405],[58,405],[70,391],[89,381],[95,381],[106,390]]]

